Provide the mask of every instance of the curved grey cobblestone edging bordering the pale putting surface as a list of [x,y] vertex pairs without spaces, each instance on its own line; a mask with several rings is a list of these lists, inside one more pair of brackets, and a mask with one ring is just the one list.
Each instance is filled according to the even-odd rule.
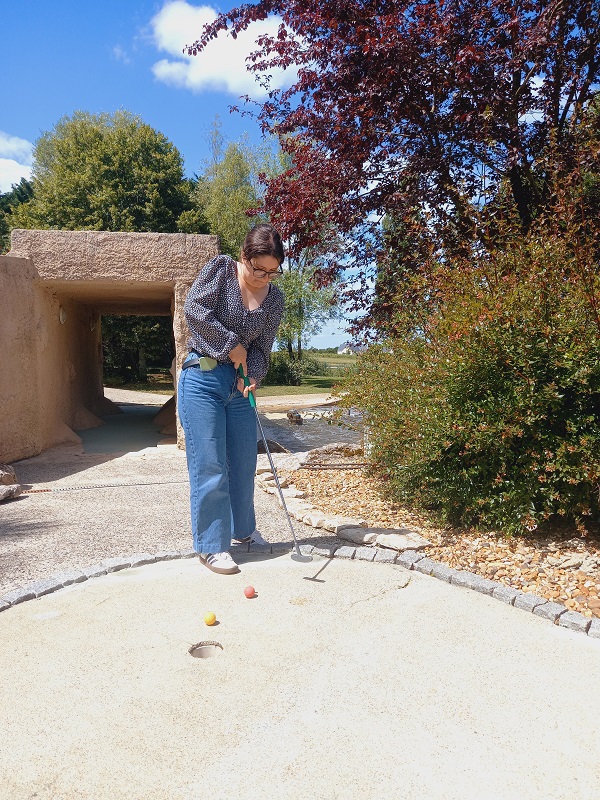
[[[265,555],[282,555],[286,552],[294,552],[293,542],[274,542],[271,545],[235,545],[234,550],[239,552],[263,553]],[[600,639],[600,619],[597,617],[585,617],[577,611],[569,611],[566,606],[560,603],[548,601],[538,595],[520,592],[511,586],[503,583],[490,581],[466,570],[456,570],[446,564],[433,561],[423,553],[416,550],[405,550],[398,553],[385,547],[351,547],[349,545],[300,545],[302,555],[316,555],[324,558],[343,558],[354,559],[356,561],[369,561],[384,564],[397,564],[408,570],[421,572],[432,578],[450,583],[453,586],[471,589],[496,600],[500,600],[515,608],[530,611],[536,616],[550,620],[554,625],[562,628],[569,628]],[[0,597],[0,613],[9,608],[23,603],[27,600],[34,600],[38,597],[57,592],[74,583],[82,583],[91,578],[107,575],[111,572],[118,572],[122,569],[141,567],[146,564],[154,564],[160,561],[173,561],[175,559],[193,558],[196,552],[193,548],[186,550],[162,550],[158,553],[135,553],[128,557],[106,558],[100,564],[94,564],[84,569],[71,569],[58,573],[51,578],[35,581],[20,589],[13,589]]]

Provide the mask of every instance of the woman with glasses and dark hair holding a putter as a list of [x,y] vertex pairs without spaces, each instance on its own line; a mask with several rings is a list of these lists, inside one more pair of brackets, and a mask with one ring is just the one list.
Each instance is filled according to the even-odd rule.
[[[232,539],[266,544],[256,530],[256,419],[248,401],[267,374],[283,314],[283,294],[271,283],[285,254],[271,225],[246,236],[240,260],[208,262],[184,305],[189,355],[179,379],[178,410],[185,431],[194,550],[213,572],[239,568]],[[242,366],[249,386],[238,376]]]

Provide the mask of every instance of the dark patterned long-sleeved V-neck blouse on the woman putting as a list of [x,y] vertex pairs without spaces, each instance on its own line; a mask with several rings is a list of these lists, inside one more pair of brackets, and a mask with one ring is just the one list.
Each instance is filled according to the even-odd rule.
[[230,364],[229,353],[241,344],[248,351],[248,375],[259,386],[269,368],[269,356],[283,315],[283,294],[274,284],[257,309],[242,301],[236,262],[220,255],[201,269],[185,300],[190,329],[188,348]]

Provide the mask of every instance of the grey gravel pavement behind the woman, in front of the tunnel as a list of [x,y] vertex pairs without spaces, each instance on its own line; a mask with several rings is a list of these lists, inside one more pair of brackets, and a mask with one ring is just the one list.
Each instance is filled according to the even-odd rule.
[[[75,456],[67,448],[62,457],[42,454],[15,465],[26,489],[53,491],[0,506],[0,596],[106,558],[190,548],[185,453],[174,445],[153,450],[111,458]],[[257,489],[255,504],[265,538],[291,541],[276,499]],[[294,531],[303,542],[337,541],[299,522]]]

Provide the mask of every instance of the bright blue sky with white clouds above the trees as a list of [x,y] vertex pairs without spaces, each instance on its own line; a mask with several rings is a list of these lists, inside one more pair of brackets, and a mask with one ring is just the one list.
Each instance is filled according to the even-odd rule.
[[[242,94],[261,98],[244,59],[261,32],[237,40],[220,37],[196,58],[182,54],[203,23],[236,3],[201,5],[184,0],[4,0],[0,191],[31,173],[39,136],[74,111],[131,111],[161,131],[181,152],[187,175],[202,170],[215,116],[227,141],[246,134],[260,141],[256,123],[229,106]],[[274,29],[277,19],[263,25]],[[274,85],[293,76],[274,74]],[[347,338],[331,324],[315,347]]]

